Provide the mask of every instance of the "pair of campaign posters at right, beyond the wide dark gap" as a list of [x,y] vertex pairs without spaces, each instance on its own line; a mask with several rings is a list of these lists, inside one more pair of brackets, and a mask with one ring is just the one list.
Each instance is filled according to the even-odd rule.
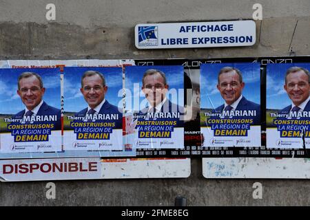
[[268,64],[262,109],[260,64],[201,65],[202,146],[260,147],[265,125],[267,148],[309,148],[309,69],[309,63]]

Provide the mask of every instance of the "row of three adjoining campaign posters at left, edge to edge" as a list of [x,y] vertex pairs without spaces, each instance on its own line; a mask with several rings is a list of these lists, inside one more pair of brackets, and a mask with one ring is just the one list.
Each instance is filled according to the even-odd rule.
[[184,148],[182,66],[0,69],[0,78],[0,153]]

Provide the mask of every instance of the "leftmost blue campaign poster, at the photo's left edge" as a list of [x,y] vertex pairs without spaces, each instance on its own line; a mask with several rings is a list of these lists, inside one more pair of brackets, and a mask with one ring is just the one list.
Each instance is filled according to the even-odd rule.
[[58,68],[0,69],[0,153],[61,151]]

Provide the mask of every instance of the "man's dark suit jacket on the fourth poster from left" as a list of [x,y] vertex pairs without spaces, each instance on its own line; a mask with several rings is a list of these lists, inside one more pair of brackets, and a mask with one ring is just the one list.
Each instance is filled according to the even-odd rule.
[[[216,109],[212,111],[212,113],[222,113],[224,110],[225,104],[220,105]],[[260,124],[260,104],[256,104],[254,102],[251,102],[245,98],[245,96],[242,96],[240,102],[238,103],[236,110],[256,110],[256,117],[242,117],[242,118],[253,118],[253,124]]]

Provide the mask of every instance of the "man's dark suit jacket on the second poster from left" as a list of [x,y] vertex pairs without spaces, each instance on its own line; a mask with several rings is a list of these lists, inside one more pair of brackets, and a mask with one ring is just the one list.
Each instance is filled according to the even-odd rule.
[[[87,113],[87,108],[83,109],[82,111],[79,111],[74,116],[85,117],[86,113]],[[105,100],[105,102],[103,103],[99,113],[100,114],[118,114],[118,120],[116,120],[116,121],[111,120],[111,122],[115,122],[114,129],[122,129],[123,128],[123,110],[122,109],[118,109],[118,107],[116,107],[113,104],[110,104],[109,102],[107,102],[107,100]]]

